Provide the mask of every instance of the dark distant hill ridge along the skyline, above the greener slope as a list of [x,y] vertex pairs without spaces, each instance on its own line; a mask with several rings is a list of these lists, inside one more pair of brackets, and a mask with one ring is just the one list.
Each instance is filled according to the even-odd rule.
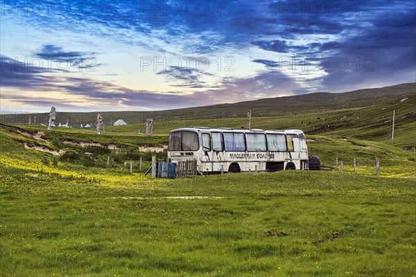
[[[397,84],[390,87],[375,89],[359,89],[345,93],[309,93],[297,96],[264,98],[253,101],[229,104],[211,105],[187,109],[173,109],[166,111],[104,111],[104,121],[107,125],[123,118],[128,124],[146,123],[146,118],[153,118],[157,122],[172,120],[197,120],[210,118],[236,118],[245,116],[248,110],[253,116],[287,116],[290,114],[324,113],[336,109],[369,107],[381,102],[391,101],[397,96],[415,96],[416,83]],[[96,123],[98,111],[94,112],[60,112],[59,105],[57,123],[66,123],[73,127],[80,124]],[[48,112],[43,114],[3,114],[0,123],[27,124],[28,117],[37,116],[38,123],[47,124]]]

